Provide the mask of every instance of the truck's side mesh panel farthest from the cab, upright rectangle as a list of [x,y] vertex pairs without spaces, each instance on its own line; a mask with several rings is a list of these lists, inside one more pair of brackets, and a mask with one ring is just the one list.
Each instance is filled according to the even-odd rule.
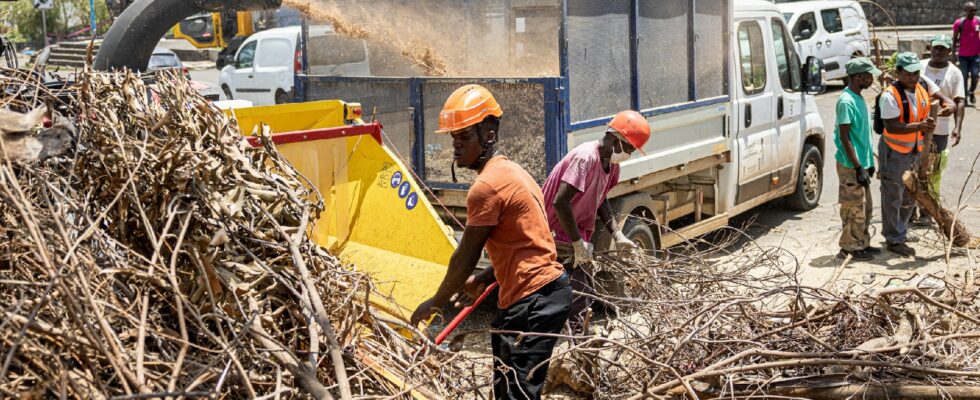
[[568,0],[573,122],[630,107],[629,0]]

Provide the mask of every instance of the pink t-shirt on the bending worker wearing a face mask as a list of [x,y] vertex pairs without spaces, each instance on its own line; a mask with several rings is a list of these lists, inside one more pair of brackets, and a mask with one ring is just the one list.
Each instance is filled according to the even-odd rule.
[[572,212],[579,236],[586,242],[595,230],[596,214],[599,206],[606,200],[609,191],[619,183],[619,166],[610,164],[609,172],[602,168],[599,159],[599,142],[586,142],[578,145],[563,158],[548,175],[544,183],[544,204],[548,210],[548,226],[555,233],[556,242],[569,243],[572,240],[561,228],[558,213],[551,205],[558,196],[558,188],[565,182],[574,186],[580,193],[572,197]]

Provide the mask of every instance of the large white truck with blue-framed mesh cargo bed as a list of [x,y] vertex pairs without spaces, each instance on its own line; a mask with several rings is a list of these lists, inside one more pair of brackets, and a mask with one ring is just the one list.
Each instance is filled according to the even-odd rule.
[[[438,9],[446,1],[422,0],[419,7]],[[622,164],[611,193],[625,233],[646,248],[693,239],[774,199],[798,210],[817,206],[825,133],[811,94],[823,89],[822,63],[801,62],[772,3],[507,3],[467,9],[464,18],[480,29],[453,25],[462,32],[458,47],[478,43],[472,47],[502,66],[553,58],[553,75],[322,76],[311,73],[314,57],[304,49],[295,97],[360,102],[385,124],[385,140],[431,188],[430,197],[446,206],[447,219],[465,218],[464,182],[472,175],[457,170],[461,183],[449,180],[451,143],[432,131],[442,102],[467,83],[494,92],[505,113],[501,150],[542,183],[570,149],[600,138],[616,112],[647,116],[653,134],[646,155],[637,152]],[[479,36],[506,32],[506,40]],[[535,50],[522,51],[528,48]],[[481,60],[481,54],[459,58]],[[602,248],[608,237],[594,241]]]

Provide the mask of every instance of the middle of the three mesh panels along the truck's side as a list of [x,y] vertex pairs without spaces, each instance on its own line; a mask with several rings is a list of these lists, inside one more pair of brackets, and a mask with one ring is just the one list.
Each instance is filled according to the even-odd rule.
[[[700,0],[698,0],[700,2]],[[643,109],[686,103],[688,83],[688,0],[640,2],[636,32]]]

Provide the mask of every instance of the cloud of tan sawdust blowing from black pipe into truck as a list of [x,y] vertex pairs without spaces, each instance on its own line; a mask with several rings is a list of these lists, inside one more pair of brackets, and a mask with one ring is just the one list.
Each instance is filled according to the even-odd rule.
[[469,9],[450,3],[453,1],[283,1],[314,23],[330,23],[345,37],[384,48],[378,53],[394,54],[385,57],[372,52],[373,75],[403,75],[405,69],[397,64],[407,62],[428,76],[558,76],[557,14],[555,18],[535,18],[540,13],[517,18],[521,20],[517,28],[511,10],[502,2],[470,3]]

